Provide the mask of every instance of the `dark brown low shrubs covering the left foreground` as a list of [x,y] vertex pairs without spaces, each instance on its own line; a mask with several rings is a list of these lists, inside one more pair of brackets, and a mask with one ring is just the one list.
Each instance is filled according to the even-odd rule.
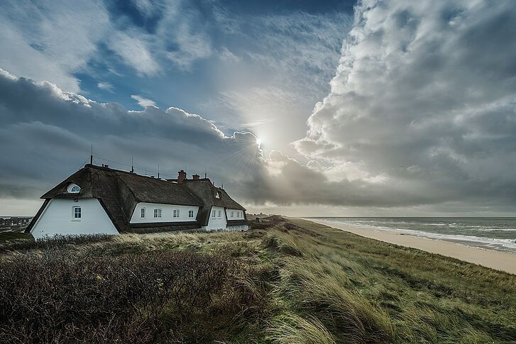
[[[240,274],[234,259],[187,250],[118,257],[56,249],[13,255],[0,263],[0,342],[148,343],[189,335],[202,341],[209,334],[182,329]],[[230,289],[232,294],[222,295],[249,301],[246,290]]]

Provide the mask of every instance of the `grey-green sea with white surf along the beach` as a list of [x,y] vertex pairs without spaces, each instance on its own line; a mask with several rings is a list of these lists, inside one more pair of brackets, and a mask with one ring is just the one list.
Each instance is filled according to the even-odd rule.
[[312,219],[516,253],[516,218],[312,217]]

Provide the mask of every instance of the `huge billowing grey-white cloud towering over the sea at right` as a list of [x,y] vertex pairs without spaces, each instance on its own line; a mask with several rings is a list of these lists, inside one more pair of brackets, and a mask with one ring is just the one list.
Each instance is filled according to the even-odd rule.
[[355,16],[295,148],[348,181],[343,197],[360,186],[357,203],[514,205],[514,6],[363,1]]

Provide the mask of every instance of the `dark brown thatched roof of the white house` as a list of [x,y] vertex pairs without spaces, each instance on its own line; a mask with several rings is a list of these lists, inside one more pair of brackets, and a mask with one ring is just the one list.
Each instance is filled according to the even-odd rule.
[[[78,194],[67,192],[70,183],[77,184],[81,188]],[[216,192],[220,192],[220,199],[216,199]],[[28,226],[27,232],[31,231],[49,199],[97,198],[119,231],[136,231],[137,227],[142,227],[142,224],[129,223],[139,202],[200,207],[194,223],[149,223],[146,226],[163,227],[160,230],[165,227],[173,229],[176,225],[197,226],[197,228],[207,226],[212,206],[245,211],[224,190],[214,187],[209,179],[187,179],[178,184],[95,165],[84,166],[41,198],[47,201]]]

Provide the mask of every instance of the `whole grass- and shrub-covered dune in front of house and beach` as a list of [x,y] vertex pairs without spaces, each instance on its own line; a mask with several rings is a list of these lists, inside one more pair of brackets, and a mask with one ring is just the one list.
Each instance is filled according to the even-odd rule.
[[516,276],[302,220],[0,244],[0,342],[510,343]]

